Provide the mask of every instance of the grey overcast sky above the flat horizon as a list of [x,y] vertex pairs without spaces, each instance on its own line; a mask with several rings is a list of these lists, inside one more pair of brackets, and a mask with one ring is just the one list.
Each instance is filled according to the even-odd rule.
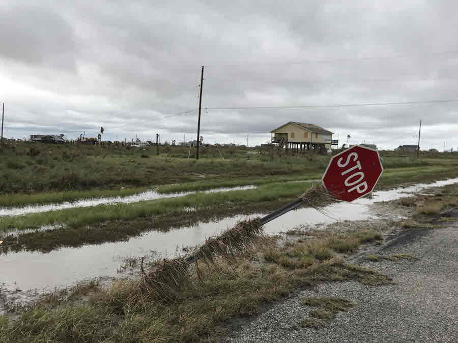
[[[287,121],[340,143],[458,148],[458,3],[48,1],[0,3],[4,135],[270,140]],[[282,107],[283,109],[211,109]],[[206,109],[208,107],[208,109]]]

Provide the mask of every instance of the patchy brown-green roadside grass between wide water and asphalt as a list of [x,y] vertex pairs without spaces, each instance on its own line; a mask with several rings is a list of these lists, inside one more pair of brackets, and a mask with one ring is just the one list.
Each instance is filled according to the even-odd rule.
[[[375,233],[364,231],[353,230],[352,235],[360,242],[368,241],[369,236],[376,239]],[[17,320],[0,317],[0,340],[200,341],[224,334],[220,324],[226,320],[260,313],[264,303],[298,288],[344,280],[373,286],[391,283],[375,270],[345,263],[330,245],[335,238],[331,232],[310,235],[294,244],[256,235],[258,238],[249,243],[253,250],[244,247],[227,256],[217,253],[212,262],[204,259],[190,265],[186,282],[175,277],[178,284],[173,297],[145,287],[145,280],[152,276],[119,280],[108,287],[81,286],[70,292],[71,297],[69,292],[55,291],[22,309]],[[236,242],[236,237],[238,234],[227,239]],[[163,263],[147,264],[146,274],[151,271],[157,276],[157,268]],[[330,306],[328,303],[323,307],[329,314],[317,311],[316,318],[331,318],[338,303]]]

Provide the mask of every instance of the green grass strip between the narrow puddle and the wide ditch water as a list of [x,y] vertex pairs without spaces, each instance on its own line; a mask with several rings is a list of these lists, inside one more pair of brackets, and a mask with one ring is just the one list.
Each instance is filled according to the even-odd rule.
[[[417,167],[399,168],[383,174],[381,184],[396,185],[402,182],[434,180],[439,177],[456,176],[454,167]],[[402,176],[403,175],[403,176]],[[402,177],[401,177],[402,176]],[[87,208],[72,208],[22,216],[3,217],[0,230],[8,228],[36,228],[42,225],[65,223],[68,225],[87,225],[107,220],[130,220],[138,217],[152,217],[171,211],[183,211],[189,207],[196,210],[211,210],[216,204],[255,204],[284,199],[285,203],[298,197],[310,186],[309,182],[268,183],[255,190],[229,191],[211,194],[191,194],[173,199],[160,199],[132,204],[100,205]]]

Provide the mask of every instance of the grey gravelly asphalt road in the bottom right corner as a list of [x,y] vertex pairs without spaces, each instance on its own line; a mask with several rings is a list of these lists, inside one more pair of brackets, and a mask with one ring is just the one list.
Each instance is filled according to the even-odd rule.
[[[228,342],[458,342],[458,223],[445,229],[410,229],[381,255],[419,260],[363,261],[395,285],[321,284],[273,305],[236,329]],[[303,296],[339,296],[356,303],[320,329],[302,328],[312,308]]]

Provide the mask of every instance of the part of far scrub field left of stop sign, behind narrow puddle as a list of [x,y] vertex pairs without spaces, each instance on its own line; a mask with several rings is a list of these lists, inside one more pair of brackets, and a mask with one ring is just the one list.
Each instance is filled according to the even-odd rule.
[[[214,147],[202,148],[198,161],[187,159],[188,149],[183,147],[161,147],[158,156],[154,150],[18,143],[15,149],[2,152],[0,194],[112,190],[201,181],[203,177],[228,181],[321,174],[329,161],[328,156],[314,156],[310,163],[306,157],[291,155],[271,161],[264,154],[248,153],[259,151],[256,148],[222,147],[224,160]],[[141,158],[144,154],[150,158]]]

